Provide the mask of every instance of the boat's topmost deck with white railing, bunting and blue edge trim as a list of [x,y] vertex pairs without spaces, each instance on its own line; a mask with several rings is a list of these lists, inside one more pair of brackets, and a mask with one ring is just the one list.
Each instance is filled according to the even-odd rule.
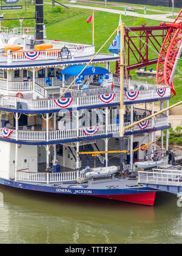
[[[16,40],[14,40],[16,41]],[[30,49],[32,44],[31,38],[22,41],[22,38],[17,39],[21,49],[13,51],[10,54],[4,52],[4,47],[0,53],[0,68],[2,69],[17,69],[17,68],[41,68],[45,66],[64,66],[74,64],[85,64],[95,55],[95,46],[90,44],[68,43],[58,40],[44,40],[45,44],[51,46],[49,49],[36,51]],[[69,55],[62,55],[62,48],[67,48]],[[92,63],[110,62],[117,60],[118,57],[113,54],[98,54]]]

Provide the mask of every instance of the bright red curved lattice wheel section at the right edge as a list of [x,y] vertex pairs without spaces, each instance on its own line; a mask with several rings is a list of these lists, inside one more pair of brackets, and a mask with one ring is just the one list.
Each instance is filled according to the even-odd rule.
[[166,24],[170,27],[163,46],[160,51],[157,63],[157,84],[170,85],[171,95],[175,96],[173,80],[169,84],[170,74],[180,48],[182,38],[182,10],[175,19],[174,23]]

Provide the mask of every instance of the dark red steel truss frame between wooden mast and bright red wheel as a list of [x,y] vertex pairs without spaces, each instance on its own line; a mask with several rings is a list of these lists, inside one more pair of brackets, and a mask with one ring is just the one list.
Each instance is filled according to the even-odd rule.
[[[130,70],[157,64],[164,38],[169,27],[166,23],[162,26],[125,27],[125,49],[127,73]],[[151,49],[155,49],[156,58],[151,59]],[[153,52],[152,52],[153,54]],[[134,59],[134,60],[133,60]],[[120,60],[116,62],[116,74],[120,74]]]

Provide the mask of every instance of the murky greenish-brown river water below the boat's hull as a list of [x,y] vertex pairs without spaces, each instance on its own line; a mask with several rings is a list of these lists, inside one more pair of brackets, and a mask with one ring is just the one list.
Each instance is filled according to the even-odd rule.
[[0,185],[0,243],[182,243],[182,208],[161,192],[146,207]]

